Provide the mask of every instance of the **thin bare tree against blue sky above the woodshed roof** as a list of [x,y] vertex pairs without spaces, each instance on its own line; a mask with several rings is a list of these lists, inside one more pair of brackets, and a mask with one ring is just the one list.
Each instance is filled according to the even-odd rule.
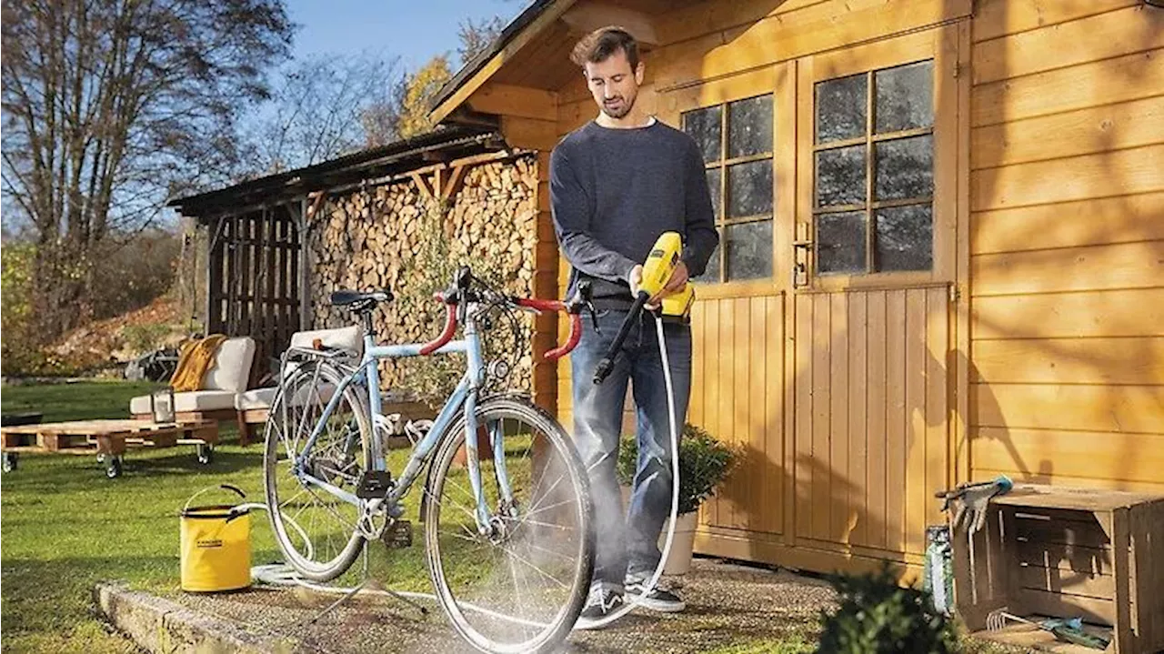
[[[334,158],[369,144],[369,128],[391,140],[397,59],[319,56],[289,65],[256,116],[251,172],[270,175]],[[383,121],[383,125],[378,125]]]

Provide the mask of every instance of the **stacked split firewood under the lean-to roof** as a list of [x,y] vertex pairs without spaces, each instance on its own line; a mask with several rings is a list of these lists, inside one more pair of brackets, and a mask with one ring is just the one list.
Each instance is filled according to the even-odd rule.
[[[352,324],[350,314],[331,306],[333,291],[390,289],[399,297],[432,286],[434,275],[426,268],[433,263],[467,264],[482,278],[504,282],[513,293],[531,294],[537,186],[537,159],[520,156],[467,170],[460,191],[447,202],[431,199],[412,178],[331,196],[308,223],[313,328]],[[447,251],[449,261],[426,263],[433,246],[445,248],[440,251]],[[435,337],[443,308],[435,301],[428,305],[416,311],[399,301],[383,307],[375,318],[377,340]],[[518,368],[510,378],[513,388],[530,390],[532,347],[526,342],[525,348],[514,353]],[[409,362],[386,362],[381,367],[383,385],[407,390],[409,370]]]

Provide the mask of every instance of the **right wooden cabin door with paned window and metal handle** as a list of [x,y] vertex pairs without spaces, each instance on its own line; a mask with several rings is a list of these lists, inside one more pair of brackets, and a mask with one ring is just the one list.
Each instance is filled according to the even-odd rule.
[[917,562],[950,485],[958,28],[797,62],[797,547]]

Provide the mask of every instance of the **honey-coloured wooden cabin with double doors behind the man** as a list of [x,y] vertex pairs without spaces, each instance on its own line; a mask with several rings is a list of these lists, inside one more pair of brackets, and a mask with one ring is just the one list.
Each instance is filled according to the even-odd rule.
[[547,296],[548,156],[596,114],[568,55],[610,23],[717,204],[689,419],[746,457],[700,552],[916,570],[959,482],[1164,490],[1164,8],[534,2],[433,114],[539,152]]

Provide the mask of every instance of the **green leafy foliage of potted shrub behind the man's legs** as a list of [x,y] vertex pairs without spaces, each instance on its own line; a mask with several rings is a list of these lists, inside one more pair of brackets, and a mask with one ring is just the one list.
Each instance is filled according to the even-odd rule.
[[[670,434],[667,434],[670,439]],[[679,439],[679,513],[698,510],[734,467],[738,453],[695,425],[683,425]],[[618,448],[618,481],[631,485],[638,468],[639,443],[633,434]],[[670,462],[667,461],[668,469]]]

